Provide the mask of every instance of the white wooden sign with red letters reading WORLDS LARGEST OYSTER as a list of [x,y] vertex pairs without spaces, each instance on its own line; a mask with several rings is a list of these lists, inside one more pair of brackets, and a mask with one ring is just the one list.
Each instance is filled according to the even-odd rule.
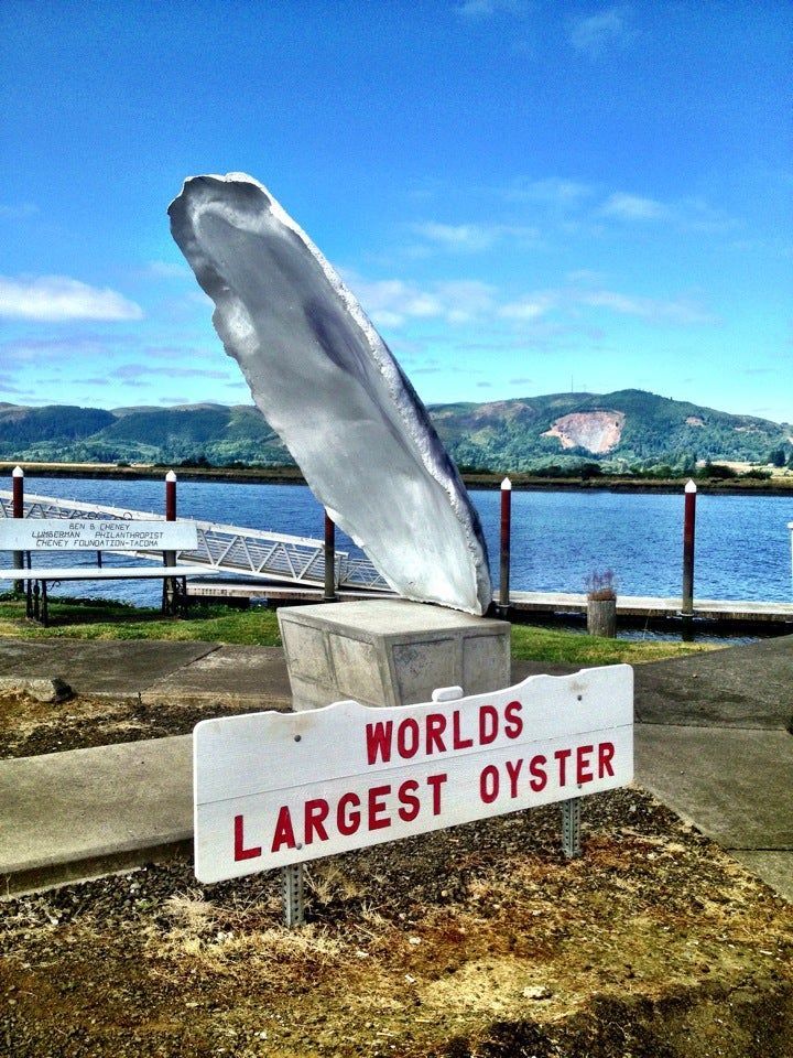
[[[453,694],[460,697],[443,700]],[[197,878],[303,863],[633,778],[628,665],[433,698],[395,709],[346,701],[197,724]]]

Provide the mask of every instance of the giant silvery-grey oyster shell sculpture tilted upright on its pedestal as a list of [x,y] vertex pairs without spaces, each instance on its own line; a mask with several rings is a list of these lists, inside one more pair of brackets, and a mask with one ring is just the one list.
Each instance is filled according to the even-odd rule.
[[457,469],[317,247],[243,173],[185,181],[169,214],[226,352],[333,520],[400,595],[485,613],[487,550]]

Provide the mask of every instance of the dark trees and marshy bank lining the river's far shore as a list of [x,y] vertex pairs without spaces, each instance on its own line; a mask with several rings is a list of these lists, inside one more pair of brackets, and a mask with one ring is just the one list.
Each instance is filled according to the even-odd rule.
[[[0,461],[0,477],[10,478],[15,466],[35,477],[107,478],[111,481],[159,479],[173,469],[185,482],[217,482],[224,485],[305,485],[296,466],[209,466],[185,464],[119,464],[119,463],[32,463],[22,460]],[[727,466],[727,473],[725,473]],[[793,473],[772,475],[764,471],[737,472],[725,464],[700,467],[693,474],[655,476],[607,474],[600,467],[593,472],[583,467],[576,474],[545,475],[525,472],[490,472],[463,468],[467,488],[498,489],[509,477],[513,489],[571,489],[624,493],[677,493],[693,478],[704,493],[741,495],[764,493],[770,496],[793,496]]]

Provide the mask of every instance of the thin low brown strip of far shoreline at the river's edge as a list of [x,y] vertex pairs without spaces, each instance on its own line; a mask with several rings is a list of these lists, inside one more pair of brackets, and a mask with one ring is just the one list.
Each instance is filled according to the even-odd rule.
[[[0,478],[11,482],[11,471],[17,463],[0,461]],[[34,477],[85,477],[108,481],[156,481],[164,478],[169,466],[117,466],[113,463],[28,463],[19,465],[25,474]],[[305,478],[297,467],[195,467],[174,466],[174,472],[183,482],[218,482],[225,485],[305,485]],[[468,488],[498,489],[503,473],[463,474]],[[634,478],[618,476],[596,476],[587,481],[572,477],[536,477],[531,474],[510,474],[515,490],[569,489],[572,492],[616,492],[616,493],[680,493],[687,477],[681,478]],[[793,497],[793,475],[783,478],[760,481],[757,478],[696,478],[697,489],[702,493],[740,496],[747,493],[762,493],[769,496]],[[3,487],[0,485],[0,487]]]

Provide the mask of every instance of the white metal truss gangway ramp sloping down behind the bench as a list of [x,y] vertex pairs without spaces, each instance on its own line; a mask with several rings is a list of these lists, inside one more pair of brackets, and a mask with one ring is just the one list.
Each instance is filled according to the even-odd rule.
[[[12,493],[0,489],[0,517],[13,517]],[[163,515],[121,507],[105,507],[78,500],[57,499],[25,493],[25,518],[75,520],[144,519],[164,520]],[[236,574],[256,581],[275,581],[322,587],[325,582],[324,541],[311,537],[291,537],[261,529],[243,529],[213,521],[186,519],[198,530],[195,551],[177,551],[176,562],[206,566],[207,574]],[[133,552],[119,552],[131,554]],[[138,551],[135,558],[162,561],[159,552]],[[337,589],[390,592],[383,576],[366,555],[336,550],[334,582]]]

